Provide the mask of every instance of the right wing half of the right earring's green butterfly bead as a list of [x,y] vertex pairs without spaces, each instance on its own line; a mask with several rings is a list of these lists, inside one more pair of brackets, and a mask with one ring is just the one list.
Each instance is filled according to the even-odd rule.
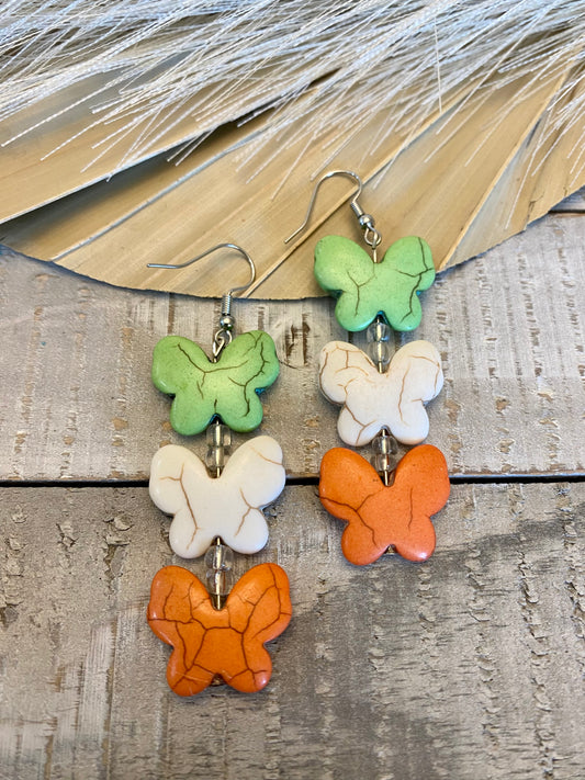
[[414,330],[420,325],[423,309],[418,293],[435,281],[435,265],[428,244],[417,236],[405,236],[392,244],[376,264],[386,319],[394,330]]

